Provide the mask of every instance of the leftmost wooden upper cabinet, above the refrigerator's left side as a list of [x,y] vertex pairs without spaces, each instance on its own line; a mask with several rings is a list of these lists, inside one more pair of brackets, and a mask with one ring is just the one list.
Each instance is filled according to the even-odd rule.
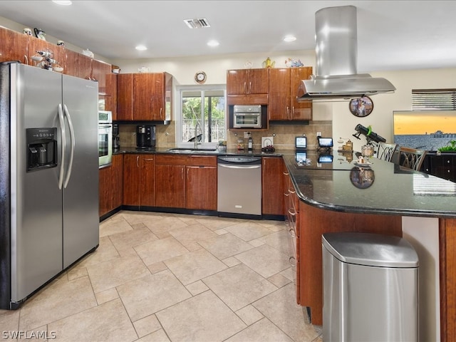
[[0,27],[0,62],[4,61],[30,62],[26,34]]

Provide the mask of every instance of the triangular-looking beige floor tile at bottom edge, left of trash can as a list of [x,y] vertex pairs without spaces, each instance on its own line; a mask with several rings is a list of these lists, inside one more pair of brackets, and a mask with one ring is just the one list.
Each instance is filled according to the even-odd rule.
[[[267,318],[261,319],[257,323],[252,324],[243,331],[237,333],[226,342],[293,342],[286,333],[274,326]],[[304,342],[304,340],[299,340]]]

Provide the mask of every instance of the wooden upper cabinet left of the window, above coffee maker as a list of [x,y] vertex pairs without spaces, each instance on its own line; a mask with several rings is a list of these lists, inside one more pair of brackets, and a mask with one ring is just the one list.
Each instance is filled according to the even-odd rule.
[[170,73],[118,74],[118,120],[171,120]]

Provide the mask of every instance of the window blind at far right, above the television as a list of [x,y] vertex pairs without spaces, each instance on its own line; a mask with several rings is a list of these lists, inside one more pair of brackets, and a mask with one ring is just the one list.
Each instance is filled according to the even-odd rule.
[[412,110],[455,110],[456,89],[413,89]]

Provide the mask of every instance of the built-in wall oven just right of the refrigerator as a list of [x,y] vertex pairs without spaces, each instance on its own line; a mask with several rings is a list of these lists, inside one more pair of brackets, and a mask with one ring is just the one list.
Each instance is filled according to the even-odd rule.
[[98,111],[98,167],[111,165],[113,160],[113,114]]

